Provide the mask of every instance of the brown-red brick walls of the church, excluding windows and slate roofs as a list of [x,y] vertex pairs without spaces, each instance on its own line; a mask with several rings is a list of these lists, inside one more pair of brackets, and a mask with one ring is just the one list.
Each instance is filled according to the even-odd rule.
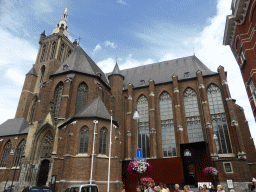
[[[56,52],[54,58],[50,58],[52,53],[52,43],[56,42]],[[199,119],[202,127],[203,140],[208,143],[210,165],[216,164],[219,170],[219,180],[225,183],[227,179],[233,179],[234,182],[249,182],[251,177],[255,177],[256,154],[253,140],[251,139],[248,123],[246,122],[242,108],[235,104],[231,98],[224,68],[220,66],[218,73],[204,75],[202,71],[197,71],[194,78],[182,79],[173,75],[170,82],[156,84],[154,79],[149,80],[148,86],[134,87],[129,84],[127,89],[123,88],[124,76],[121,74],[112,74],[109,76],[109,84],[97,75],[81,73],[77,71],[63,72],[55,74],[63,67],[62,64],[68,57],[69,50],[75,50],[76,42],[73,44],[63,35],[60,28],[58,34],[46,36],[41,35],[40,48],[36,63],[33,68],[36,74],[28,73],[21,93],[20,102],[16,112],[16,118],[24,117],[30,119],[30,128],[28,135],[19,136],[18,140],[26,138],[27,144],[25,157],[22,159],[22,166],[19,168],[19,182],[22,185],[36,185],[39,175],[42,174],[42,162],[48,162],[49,167],[45,176],[46,184],[50,184],[51,177],[56,175],[55,191],[64,191],[66,187],[73,184],[89,183],[91,177],[93,136],[95,130],[95,156],[93,160],[92,180],[99,186],[100,191],[107,190],[108,180],[108,154],[110,140],[110,121],[108,119],[95,117],[77,118],[69,122],[69,118],[74,118],[77,101],[77,90],[79,85],[84,82],[87,85],[87,104],[95,101],[98,97],[103,101],[109,114],[113,114],[113,119],[117,126],[113,126],[112,133],[112,152],[111,152],[111,176],[110,191],[120,191],[122,181],[127,178],[124,167],[127,161],[136,157],[136,148],[138,147],[138,123],[133,119],[133,114],[137,108],[137,101],[141,95],[144,95],[148,101],[149,115],[149,161],[155,165],[164,162],[159,166],[160,172],[164,172],[165,166],[170,166],[170,171],[179,170],[179,179],[166,180],[167,184],[175,182],[184,183],[185,174],[182,164],[182,144],[189,143],[189,132],[186,120],[184,92],[187,88],[195,91],[196,100],[199,109]],[[60,46],[64,44],[63,55],[60,58]],[[42,51],[42,47],[45,51]],[[44,54],[44,57],[42,57]],[[42,76],[41,68],[45,66],[45,73]],[[53,75],[55,74],[55,75]],[[73,75],[74,74],[74,75]],[[71,76],[70,76],[71,75]],[[159,74],[161,75],[161,74]],[[42,79],[42,80],[41,80]],[[40,82],[41,80],[41,82]],[[59,114],[54,116],[53,108],[56,105],[56,87],[63,84],[61,94]],[[227,122],[227,137],[231,141],[231,153],[218,154],[216,141],[213,139],[214,129],[213,120],[210,112],[208,100],[208,88],[215,85],[221,91],[221,100],[224,105],[224,112]],[[163,92],[167,92],[172,99],[172,111],[174,121],[174,135],[176,142],[177,155],[174,157],[164,157],[163,139],[160,116],[159,98]],[[31,105],[36,99],[34,110]],[[30,112],[33,111],[30,117]],[[97,120],[97,124],[94,121]],[[63,125],[63,126],[62,126]],[[81,128],[86,126],[89,131],[88,152],[80,153]],[[106,128],[106,152],[99,153],[100,131]],[[8,138],[12,143],[15,136],[3,138],[6,142]],[[171,139],[171,138],[169,138]],[[0,155],[3,153],[4,144],[0,143]],[[42,151],[50,152],[50,155],[42,156]],[[208,154],[208,153],[207,153]],[[196,170],[199,171],[198,182],[205,181],[201,176],[202,167],[207,166],[207,154],[197,157],[203,159],[195,163]],[[6,180],[6,175],[13,174],[11,170],[12,157],[8,159],[6,168],[0,168],[0,181]],[[168,164],[169,162],[169,164]],[[178,167],[172,167],[172,163]],[[206,163],[207,162],[207,163]],[[226,173],[224,163],[230,162],[232,172]],[[209,163],[208,163],[209,165]],[[123,170],[122,170],[123,169]],[[169,173],[170,174],[170,173]],[[152,177],[157,182],[159,174]],[[166,175],[168,177],[168,175]],[[170,177],[171,178],[171,177]],[[207,179],[206,179],[207,180]],[[126,182],[126,185],[129,183]]]

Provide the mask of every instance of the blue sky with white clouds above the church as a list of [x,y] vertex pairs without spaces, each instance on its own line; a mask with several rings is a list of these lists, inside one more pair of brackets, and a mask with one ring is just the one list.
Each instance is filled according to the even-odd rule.
[[25,74],[35,62],[40,34],[50,35],[68,8],[71,41],[104,72],[195,55],[211,70],[228,71],[232,98],[256,126],[238,65],[222,45],[231,0],[0,1],[0,123],[15,116]]

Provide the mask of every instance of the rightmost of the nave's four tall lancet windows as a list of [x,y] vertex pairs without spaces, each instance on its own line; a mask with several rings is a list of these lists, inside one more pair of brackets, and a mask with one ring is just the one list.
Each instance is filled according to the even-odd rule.
[[214,133],[218,137],[218,139],[216,139],[218,153],[232,153],[221,91],[216,85],[211,84],[207,89],[207,95]]

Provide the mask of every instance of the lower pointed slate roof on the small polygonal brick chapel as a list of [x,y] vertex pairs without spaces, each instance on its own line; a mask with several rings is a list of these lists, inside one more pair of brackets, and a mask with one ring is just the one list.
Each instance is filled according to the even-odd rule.
[[[84,119],[84,118],[99,118],[104,120],[111,120],[111,116],[104,105],[101,97],[93,100],[88,103],[78,114],[74,115],[71,118],[68,118],[59,128],[64,127],[65,125],[71,123],[75,119]],[[116,121],[113,122],[117,125]]]

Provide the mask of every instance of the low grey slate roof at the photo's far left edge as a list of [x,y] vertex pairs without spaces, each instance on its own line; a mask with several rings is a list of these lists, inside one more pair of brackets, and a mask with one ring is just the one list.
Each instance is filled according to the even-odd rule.
[[25,118],[8,119],[0,125],[0,136],[28,134],[29,123]]

